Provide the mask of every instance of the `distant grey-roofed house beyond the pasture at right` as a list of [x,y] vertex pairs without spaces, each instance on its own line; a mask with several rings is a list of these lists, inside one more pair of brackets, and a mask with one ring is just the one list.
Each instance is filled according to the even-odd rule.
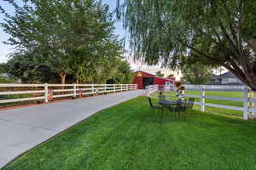
[[228,72],[225,72],[224,74],[212,75],[211,84],[243,85],[243,82],[241,82],[233,73],[228,71]]

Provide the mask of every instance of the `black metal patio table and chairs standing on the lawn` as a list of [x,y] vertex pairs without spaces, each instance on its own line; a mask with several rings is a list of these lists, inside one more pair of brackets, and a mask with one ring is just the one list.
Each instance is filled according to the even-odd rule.
[[166,99],[166,95],[160,94],[159,96],[159,105],[154,105],[152,100],[148,97],[150,110],[160,110],[162,113],[164,110],[172,111],[174,113],[185,114],[187,110],[191,110],[195,103],[195,98],[187,99],[177,99],[176,101]]

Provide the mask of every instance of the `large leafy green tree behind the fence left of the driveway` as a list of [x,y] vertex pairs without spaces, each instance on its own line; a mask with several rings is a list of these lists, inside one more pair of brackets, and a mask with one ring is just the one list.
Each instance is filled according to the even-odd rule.
[[84,68],[90,72],[90,65],[122,50],[113,36],[112,14],[101,1],[23,0],[21,6],[7,1],[15,7],[15,15],[5,13],[1,24],[10,35],[6,43],[18,54],[43,58],[42,65],[53,69],[61,83],[68,75],[79,81]]

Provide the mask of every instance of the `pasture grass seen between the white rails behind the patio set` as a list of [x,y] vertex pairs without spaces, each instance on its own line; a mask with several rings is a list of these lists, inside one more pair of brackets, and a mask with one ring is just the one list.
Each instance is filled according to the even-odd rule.
[[[171,98],[176,98],[177,92],[165,92],[165,94],[170,96]],[[185,94],[200,95],[201,92],[186,91]],[[242,92],[209,92],[207,91],[205,95],[214,96],[214,97],[226,97],[226,98],[243,98]],[[195,101],[200,102],[200,99],[195,99]],[[230,106],[243,107],[243,103],[239,101],[228,101],[228,100],[221,100],[221,99],[205,99],[205,102],[211,103],[211,104],[217,104],[217,105],[230,105]],[[195,109],[200,109],[200,106],[195,105]],[[206,106],[206,111],[214,114],[228,115],[228,116],[242,116],[243,114],[242,111],[220,109],[220,108],[214,108],[214,107],[208,107],[208,106]]]

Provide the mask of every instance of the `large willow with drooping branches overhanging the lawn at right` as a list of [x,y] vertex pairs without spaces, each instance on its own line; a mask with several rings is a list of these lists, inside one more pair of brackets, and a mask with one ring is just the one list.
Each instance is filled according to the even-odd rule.
[[131,48],[148,64],[175,68],[186,55],[223,66],[256,90],[255,0],[123,0],[118,12]]

